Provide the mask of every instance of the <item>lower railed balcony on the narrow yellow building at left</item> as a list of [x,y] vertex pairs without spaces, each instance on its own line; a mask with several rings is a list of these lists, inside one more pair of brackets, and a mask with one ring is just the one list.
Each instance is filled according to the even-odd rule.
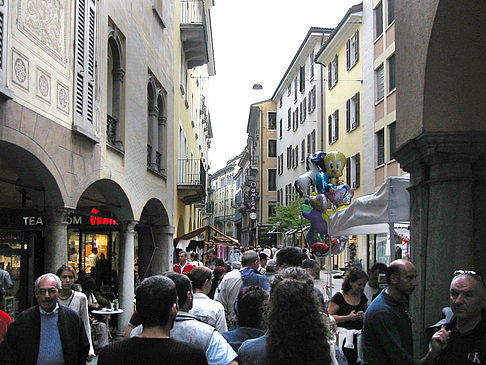
[[177,196],[186,205],[204,202],[206,197],[206,170],[200,159],[178,159]]

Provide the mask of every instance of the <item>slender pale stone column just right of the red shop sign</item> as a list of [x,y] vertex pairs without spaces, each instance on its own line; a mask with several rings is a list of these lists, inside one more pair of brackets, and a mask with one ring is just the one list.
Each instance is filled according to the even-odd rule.
[[120,224],[120,272],[118,274],[118,301],[123,313],[118,314],[116,337],[122,338],[133,313],[134,294],[134,227],[136,221],[119,221]]

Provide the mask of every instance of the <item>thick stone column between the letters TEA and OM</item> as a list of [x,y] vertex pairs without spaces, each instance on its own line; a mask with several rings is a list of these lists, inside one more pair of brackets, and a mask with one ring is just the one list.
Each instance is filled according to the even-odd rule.
[[67,264],[67,222],[69,210],[47,208],[44,214],[44,271],[56,273]]

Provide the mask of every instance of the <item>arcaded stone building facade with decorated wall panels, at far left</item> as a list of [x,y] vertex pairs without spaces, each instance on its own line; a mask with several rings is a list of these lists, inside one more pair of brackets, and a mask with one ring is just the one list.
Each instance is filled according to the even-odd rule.
[[[208,31],[201,31],[208,4],[192,3],[0,7],[0,263],[15,284],[13,316],[33,304],[35,277],[69,263],[119,299],[121,334],[133,309],[134,270],[145,277],[171,267],[181,124],[174,44],[183,43],[185,27]],[[184,17],[187,7],[201,16]],[[203,41],[192,45],[207,49]],[[209,64],[207,53],[186,51],[187,69]],[[202,142],[194,158],[204,166],[210,133],[206,91],[197,87]]]

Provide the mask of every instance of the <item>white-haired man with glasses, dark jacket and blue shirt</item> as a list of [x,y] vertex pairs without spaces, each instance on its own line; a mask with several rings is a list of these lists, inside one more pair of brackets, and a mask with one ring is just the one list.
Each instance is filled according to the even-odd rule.
[[39,305],[18,315],[0,345],[1,364],[77,365],[88,358],[89,342],[75,311],[59,305],[61,280],[41,275],[34,292]]

